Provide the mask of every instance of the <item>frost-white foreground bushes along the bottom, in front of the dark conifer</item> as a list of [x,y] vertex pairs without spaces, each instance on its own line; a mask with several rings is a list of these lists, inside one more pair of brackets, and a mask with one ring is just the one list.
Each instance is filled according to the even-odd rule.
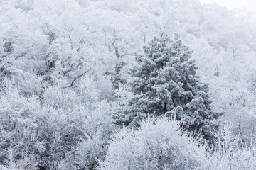
[[241,147],[232,124],[215,132],[216,147],[210,152],[180,125],[167,118],[148,118],[138,130],[120,130],[99,169],[255,169],[255,141],[250,145],[244,141]]

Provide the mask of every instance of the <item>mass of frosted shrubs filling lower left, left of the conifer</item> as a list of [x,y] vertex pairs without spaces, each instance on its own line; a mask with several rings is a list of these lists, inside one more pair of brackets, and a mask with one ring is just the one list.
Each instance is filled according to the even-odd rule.
[[99,91],[91,84],[87,78],[76,89],[49,87],[40,103],[36,96],[21,96],[13,81],[5,80],[0,91],[0,164],[10,169],[92,169],[97,165],[97,159],[105,156],[114,125],[109,115],[112,108],[100,101]]

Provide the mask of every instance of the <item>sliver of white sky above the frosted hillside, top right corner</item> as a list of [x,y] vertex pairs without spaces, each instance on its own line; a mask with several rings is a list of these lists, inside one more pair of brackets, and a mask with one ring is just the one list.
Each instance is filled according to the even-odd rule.
[[247,8],[256,12],[256,0],[200,0],[202,4],[216,3],[228,9]]

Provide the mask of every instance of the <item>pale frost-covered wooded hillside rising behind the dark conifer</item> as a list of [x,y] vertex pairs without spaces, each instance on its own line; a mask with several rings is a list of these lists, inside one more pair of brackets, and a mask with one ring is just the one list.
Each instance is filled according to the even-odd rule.
[[255,100],[252,13],[202,6],[198,0],[1,0],[0,8],[0,75],[14,77],[24,94],[41,94],[64,79],[71,86],[90,70],[100,80],[102,98],[114,99],[103,75],[113,74],[114,89],[129,81],[133,52],[164,30],[181,34],[195,50],[198,73],[215,106],[243,135],[255,132],[243,110]]

